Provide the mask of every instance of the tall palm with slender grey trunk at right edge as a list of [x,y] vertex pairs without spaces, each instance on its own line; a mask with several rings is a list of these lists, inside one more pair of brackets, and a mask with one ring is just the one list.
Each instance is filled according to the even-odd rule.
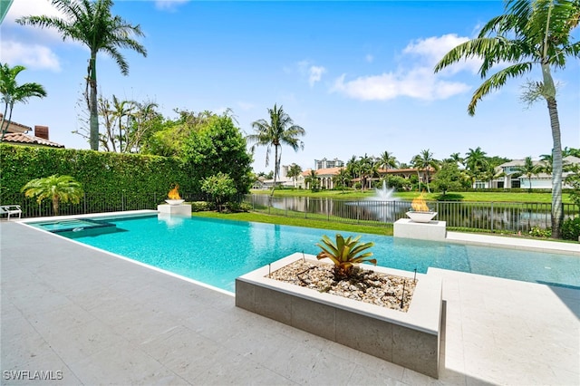
[[[531,72],[539,66],[542,81],[528,82],[523,99],[528,102],[544,99],[552,130],[552,236],[560,237],[564,219],[562,211],[562,142],[556,104],[556,84],[552,69],[565,67],[567,56],[580,57],[580,43],[571,42],[571,31],[580,22],[578,0],[507,0],[506,13],[485,24],[478,37],[453,48],[435,66],[439,72],[452,63],[478,57],[483,60],[479,75],[499,64],[500,70],[489,76],[473,93],[469,115],[475,114],[478,101],[498,90],[507,79]],[[505,63],[510,65],[505,66]]]

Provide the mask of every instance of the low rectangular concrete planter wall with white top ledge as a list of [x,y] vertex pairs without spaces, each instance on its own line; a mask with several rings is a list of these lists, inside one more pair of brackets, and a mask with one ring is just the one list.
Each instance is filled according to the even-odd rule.
[[[407,313],[291,285],[266,277],[302,259],[294,254],[236,279],[236,305],[308,333],[366,352],[433,378],[439,377],[441,281],[417,274]],[[316,260],[314,256],[305,258]],[[362,265],[376,272],[413,273]]]

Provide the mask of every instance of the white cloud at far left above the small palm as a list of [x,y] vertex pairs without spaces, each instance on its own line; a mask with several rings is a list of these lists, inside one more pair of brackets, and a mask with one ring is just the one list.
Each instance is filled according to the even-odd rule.
[[43,45],[2,40],[0,51],[2,61],[11,65],[22,64],[29,69],[61,71],[61,64],[56,54]]

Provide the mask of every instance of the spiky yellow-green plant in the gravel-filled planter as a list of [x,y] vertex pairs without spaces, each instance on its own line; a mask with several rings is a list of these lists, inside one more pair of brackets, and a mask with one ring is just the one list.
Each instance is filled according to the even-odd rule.
[[322,242],[324,245],[318,243],[322,251],[316,256],[319,260],[328,257],[334,263],[334,278],[343,280],[353,275],[353,267],[360,263],[377,264],[377,260],[368,258],[372,256],[372,252],[363,251],[374,246],[374,243],[360,244],[361,236],[348,236],[346,239],[340,234],[336,234],[336,244],[330,237],[324,235]]

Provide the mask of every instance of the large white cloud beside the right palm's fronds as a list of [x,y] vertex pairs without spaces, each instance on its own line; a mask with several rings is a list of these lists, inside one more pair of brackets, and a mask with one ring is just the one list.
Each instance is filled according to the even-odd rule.
[[401,63],[404,65],[399,69],[352,80],[347,80],[346,74],[343,74],[334,81],[330,91],[362,101],[388,101],[398,97],[435,101],[468,92],[471,86],[447,81],[446,77],[462,70],[477,72],[479,61],[469,60],[452,66],[452,70],[438,74],[433,72],[435,64],[445,53],[467,40],[467,37],[446,34],[413,41],[403,49]]

